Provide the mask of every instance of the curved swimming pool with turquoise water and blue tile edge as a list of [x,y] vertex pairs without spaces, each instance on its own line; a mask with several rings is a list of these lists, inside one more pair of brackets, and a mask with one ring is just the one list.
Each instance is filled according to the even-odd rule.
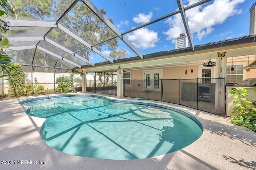
[[[151,103],[66,95],[20,102],[46,118],[41,137],[61,152],[92,158],[141,159],[180,150],[202,135],[189,113]],[[162,108],[158,108],[162,107]],[[178,111],[178,112],[177,112]]]

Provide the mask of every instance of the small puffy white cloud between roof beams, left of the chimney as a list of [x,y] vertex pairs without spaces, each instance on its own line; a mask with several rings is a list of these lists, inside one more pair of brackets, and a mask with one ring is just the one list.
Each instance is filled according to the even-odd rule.
[[127,34],[127,39],[132,42],[136,48],[148,49],[155,47],[160,38],[157,32],[148,28],[141,28]]

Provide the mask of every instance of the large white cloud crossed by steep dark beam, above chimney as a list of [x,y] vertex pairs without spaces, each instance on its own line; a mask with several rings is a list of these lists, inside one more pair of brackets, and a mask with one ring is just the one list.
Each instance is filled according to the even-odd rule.
[[[194,4],[199,0],[188,0],[188,5]],[[238,4],[245,0],[214,0],[208,6],[197,6],[186,11],[188,25],[194,38],[201,40],[209,33],[217,28],[217,25],[224,23],[228,17],[240,14],[242,11],[238,9]],[[180,33],[186,33],[180,14],[175,15],[165,21],[170,28],[163,32],[167,35],[166,40],[175,42],[175,38]]]

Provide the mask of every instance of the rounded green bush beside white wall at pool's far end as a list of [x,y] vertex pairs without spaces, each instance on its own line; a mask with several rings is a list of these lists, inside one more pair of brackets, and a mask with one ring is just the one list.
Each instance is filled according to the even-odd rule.
[[56,79],[56,84],[58,87],[56,88],[57,92],[60,93],[68,93],[71,88],[73,88],[73,80],[74,74],[70,74],[70,76],[60,76]]

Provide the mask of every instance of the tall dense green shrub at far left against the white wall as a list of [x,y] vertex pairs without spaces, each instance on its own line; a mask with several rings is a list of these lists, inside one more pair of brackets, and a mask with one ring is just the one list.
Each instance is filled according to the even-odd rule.
[[8,73],[8,96],[12,98],[19,98],[25,96],[25,78],[26,74],[19,64],[13,64],[14,69]]

